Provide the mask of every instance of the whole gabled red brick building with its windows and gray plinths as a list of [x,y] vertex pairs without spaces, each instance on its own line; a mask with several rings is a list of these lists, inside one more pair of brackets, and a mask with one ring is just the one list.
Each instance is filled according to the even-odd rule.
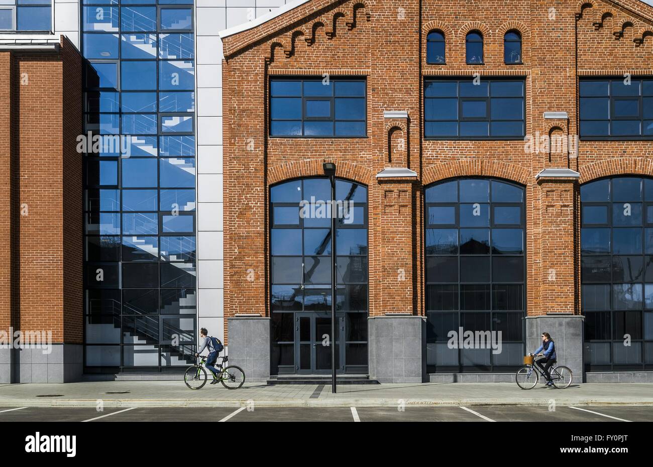
[[[281,210],[296,204],[283,183],[324,177],[330,162],[367,195],[366,291],[338,279],[342,372],[499,381],[548,330],[575,378],[650,381],[653,7],[309,0],[282,10],[221,33],[231,360],[262,379],[330,368],[308,348],[320,347],[331,304],[307,291],[308,258],[330,246],[308,251],[317,233],[296,208]],[[367,325],[349,319],[350,292]],[[507,353],[452,348],[459,327],[502,330]]]

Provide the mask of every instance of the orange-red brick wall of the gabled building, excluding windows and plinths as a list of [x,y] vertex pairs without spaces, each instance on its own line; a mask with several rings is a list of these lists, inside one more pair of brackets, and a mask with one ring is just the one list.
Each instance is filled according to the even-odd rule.
[[[225,37],[225,317],[269,315],[269,187],[320,175],[323,161],[369,187],[370,315],[424,314],[422,195],[426,185],[458,176],[526,187],[528,315],[579,314],[579,183],[653,175],[653,142],[580,141],[576,157],[527,152],[522,140],[425,140],[424,76],[523,76],[526,135],[577,135],[579,76],[653,74],[652,19],[653,7],[636,0],[313,0]],[[426,64],[432,29],[445,33],[445,65]],[[483,65],[465,63],[471,29],[484,34]],[[522,35],[520,65],[503,63],[509,29]],[[324,73],[367,78],[368,137],[268,137],[268,78]],[[409,118],[385,119],[384,110],[405,110]],[[543,117],[553,111],[568,120]],[[393,150],[398,137],[404,152]],[[387,167],[414,170],[417,180],[378,182],[375,174]],[[547,168],[581,177],[536,180]]]

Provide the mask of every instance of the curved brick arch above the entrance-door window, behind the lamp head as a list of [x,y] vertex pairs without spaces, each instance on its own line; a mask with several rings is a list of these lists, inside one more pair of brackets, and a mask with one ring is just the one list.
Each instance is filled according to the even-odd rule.
[[[268,186],[291,180],[293,178],[313,177],[324,175],[323,162],[331,160],[308,159],[304,161],[289,162],[268,168]],[[371,185],[374,180],[372,169],[351,162],[336,161],[336,177],[349,178],[363,185]]]

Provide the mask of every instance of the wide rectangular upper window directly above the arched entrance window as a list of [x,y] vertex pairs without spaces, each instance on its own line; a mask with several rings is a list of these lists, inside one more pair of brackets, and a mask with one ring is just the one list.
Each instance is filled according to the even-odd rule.
[[364,79],[270,81],[270,135],[355,138],[367,135]]

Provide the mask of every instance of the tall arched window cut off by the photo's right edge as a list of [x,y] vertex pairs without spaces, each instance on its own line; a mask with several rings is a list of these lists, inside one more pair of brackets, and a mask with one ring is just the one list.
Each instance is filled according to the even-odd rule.
[[587,370],[653,368],[653,180],[581,186]]

